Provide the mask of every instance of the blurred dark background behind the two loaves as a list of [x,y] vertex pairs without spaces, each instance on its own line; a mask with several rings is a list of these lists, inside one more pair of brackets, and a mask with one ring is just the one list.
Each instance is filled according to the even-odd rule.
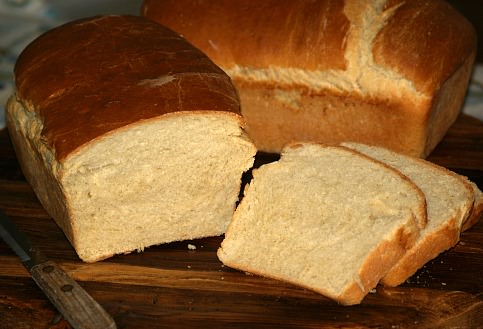
[[[483,1],[448,2],[473,23],[481,40],[463,111],[483,120]],[[138,15],[141,4],[142,0],[0,0],[0,129],[5,126],[5,102],[13,91],[15,60],[30,41],[76,18],[99,14]]]

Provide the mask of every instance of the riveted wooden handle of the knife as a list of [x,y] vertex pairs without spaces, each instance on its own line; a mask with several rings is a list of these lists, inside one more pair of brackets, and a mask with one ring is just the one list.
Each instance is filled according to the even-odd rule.
[[30,270],[34,281],[75,329],[115,329],[116,323],[76,281],[56,263],[47,261]]

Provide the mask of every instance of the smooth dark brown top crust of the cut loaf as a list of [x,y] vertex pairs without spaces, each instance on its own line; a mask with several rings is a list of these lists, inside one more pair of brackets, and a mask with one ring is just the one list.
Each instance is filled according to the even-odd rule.
[[63,159],[129,124],[176,111],[239,114],[230,78],[177,33],[138,16],[67,23],[34,40],[15,66],[17,99],[43,120]]

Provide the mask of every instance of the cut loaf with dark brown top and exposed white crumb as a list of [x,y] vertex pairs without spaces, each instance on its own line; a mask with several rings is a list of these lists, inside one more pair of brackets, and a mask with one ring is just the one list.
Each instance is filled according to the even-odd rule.
[[15,82],[23,172],[82,260],[225,232],[256,149],[230,78],[178,34],[71,22],[22,52]]

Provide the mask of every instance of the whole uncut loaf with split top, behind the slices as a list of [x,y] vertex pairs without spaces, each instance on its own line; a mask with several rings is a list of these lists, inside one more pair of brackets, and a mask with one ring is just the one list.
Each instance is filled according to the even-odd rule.
[[476,52],[441,0],[145,0],[231,76],[259,150],[344,141],[427,156],[458,116]]

